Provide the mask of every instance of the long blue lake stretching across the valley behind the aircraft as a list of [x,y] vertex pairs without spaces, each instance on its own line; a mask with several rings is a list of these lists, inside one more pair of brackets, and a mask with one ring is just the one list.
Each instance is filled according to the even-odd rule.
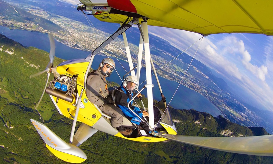
[[[0,33],[10,39],[13,39],[16,42],[19,42],[20,44],[23,44],[24,46],[36,47],[38,49],[42,49],[47,52],[50,51],[49,38],[48,38],[47,34],[26,31],[26,30],[10,30],[9,28],[3,27],[3,26],[0,26]],[[86,58],[89,54],[90,54],[90,52],[86,52],[86,51],[82,51],[82,50],[78,50],[78,49],[72,49],[62,43],[56,42],[56,57],[58,57],[58,58],[66,59],[66,60],[77,59],[77,58]],[[101,62],[101,60],[103,58],[105,58],[105,57],[102,55],[96,55],[94,58],[93,64],[92,64],[92,68],[97,69],[99,66],[99,63]],[[122,66],[119,64],[119,62],[116,59],[114,59],[114,60],[116,63],[116,70],[117,70],[117,72],[119,72],[119,75],[122,78],[123,75],[126,74],[126,71],[130,70],[129,65],[127,62],[120,60],[120,63],[126,69],[126,71],[125,71],[122,68]],[[114,72],[109,77],[108,80],[115,81],[115,82],[121,84],[122,81],[121,81],[120,77],[117,75],[116,72]],[[145,72],[145,69],[142,69],[140,82],[144,81],[145,78],[146,78],[146,72]],[[163,90],[163,94],[166,97],[167,104],[168,104],[170,99],[172,98],[176,88],[178,87],[179,83],[165,79],[160,76],[158,78],[159,78],[160,85]],[[154,83],[153,97],[155,100],[161,100],[158,85],[156,83],[156,79],[154,76],[153,76],[152,80]],[[142,87],[142,86],[140,86],[140,87]],[[146,95],[145,90],[142,91],[142,93],[144,95]],[[204,96],[200,95],[199,93],[195,92],[194,90],[191,90],[191,89],[185,87],[184,85],[179,86],[179,89],[177,90],[176,94],[174,95],[174,98],[171,101],[170,105],[172,107],[174,107],[175,109],[191,109],[191,108],[193,108],[197,111],[210,113],[214,117],[221,115],[221,112],[209,100],[207,100]]]

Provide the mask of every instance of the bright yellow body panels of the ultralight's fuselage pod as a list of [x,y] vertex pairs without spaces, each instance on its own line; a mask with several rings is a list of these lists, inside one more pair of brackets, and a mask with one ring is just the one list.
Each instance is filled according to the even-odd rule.
[[[88,67],[88,62],[80,62],[80,63],[73,63],[73,64],[69,64],[67,63],[66,65],[60,65],[57,67],[57,72],[59,74],[65,74],[69,77],[72,77],[73,75],[78,75],[77,77],[77,90],[78,93],[81,92],[82,89],[84,89],[84,75],[85,72],[87,70]],[[77,95],[79,96],[79,95]],[[63,114],[64,116],[66,116],[67,118],[73,119],[75,112],[76,112],[76,101],[77,98],[75,97],[74,100],[72,101],[72,103],[59,99],[58,103],[56,103],[57,98],[52,96],[53,101],[55,101],[55,105],[57,106],[57,108],[59,109],[60,113]],[[100,111],[97,109],[97,107],[92,104],[87,96],[86,96],[86,90],[83,90],[83,95],[82,95],[82,103],[79,109],[79,113],[78,113],[78,118],[77,120],[80,122],[83,122],[85,124],[87,124],[88,126],[93,126],[97,123],[97,121],[103,117],[103,119],[107,120],[107,118],[104,118],[104,116],[102,116],[102,114],[100,113]],[[104,121],[105,126],[109,126],[110,121]],[[106,125],[108,124],[108,125]],[[164,125],[164,126],[168,126],[168,125]],[[102,127],[102,126],[100,126]],[[104,131],[107,133],[107,131],[105,131],[105,129],[101,128],[96,128],[99,131]],[[113,128],[114,131],[116,131],[116,133],[112,133],[114,136],[118,136],[124,139],[128,139],[128,140],[132,140],[132,141],[140,141],[140,142],[160,142],[160,141],[165,141],[167,139],[165,138],[161,138],[161,137],[153,137],[153,136],[139,136],[136,138],[127,138],[123,135],[121,135],[116,128]],[[171,128],[166,128],[168,134],[176,134],[176,131],[172,130]]]

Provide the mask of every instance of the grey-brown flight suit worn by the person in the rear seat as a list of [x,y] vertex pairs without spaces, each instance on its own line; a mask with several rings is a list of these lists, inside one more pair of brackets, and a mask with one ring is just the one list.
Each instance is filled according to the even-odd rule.
[[[113,127],[122,126],[123,116],[120,114],[121,110],[106,99],[109,95],[108,88],[105,87],[103,81],[104,75],[99,69],[93,72],[99,75],[89,75],[87,78],[86,95],[89,101],[99,107],[105,114],[111,116],[111,125]],[[101,77],[103,79],[101,79]]]

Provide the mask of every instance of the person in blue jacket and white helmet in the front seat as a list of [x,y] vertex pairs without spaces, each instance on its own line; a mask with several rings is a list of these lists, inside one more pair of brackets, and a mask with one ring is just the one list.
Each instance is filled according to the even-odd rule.
[[[146,131],[150,131],[149,127],[141,121],[129,108],[128,108],[128,102],[133,97],[133,92],[136,90],[137,87],[137,79],[135,76],[127,76],[124,80],[123,84],[118,88],[119,91],[115,91],[115,104],[122,110],[124,115],[131,119],[132,123],[135,123],[137,125],[142,126]],[[137,95],[137,97],[140,97],[141,94]],[[131,101],[129,107],[140,117],[142,118],[142,112],[141,110],[133,106],[133,101]],[[143,110],[143,109],[142,109]],[[144,116],[149,116],[147,111],[143,111]]]

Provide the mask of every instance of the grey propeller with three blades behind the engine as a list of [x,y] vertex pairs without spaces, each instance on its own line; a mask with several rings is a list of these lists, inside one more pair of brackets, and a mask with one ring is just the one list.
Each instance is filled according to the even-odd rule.
[[[46,68],[45,68],[44,71],[41,71],[41,72],[39,72],[37,74],[30,75],[30,78],[32,78],[32,77],[35,77],[35,76],[38,76],[40,74],[43,74],[43,73],[47,72],[47,80],[46,80],[46,83],[45,83],[45,89],[46,89],[46,86],[47,86],[47,83],[48,83],[48,79],[49,79],[49,76],[50,76],[50,73],[51,73],[51,68],[53,67],[53,60],[55,58],[55,48],[56,48],[56,46],[55,46],[55,40],[54,40],[52,34],[49,33],[48,36],[49,36],[49,41],[50,41],[50,53],[49,53],[50,62],[47,64],[47,66],[46,66]],[[44,91],[43,91],[43,93],[41,95],[41,98],[40,98],[39,102],[35,106],[36,110],[37,110],[38,106],[40,105],[40,102],[41,102],[41,100],[42,100],[42,98],[43,98],[43,96],[45,94],[45,89],[44,89]]]

